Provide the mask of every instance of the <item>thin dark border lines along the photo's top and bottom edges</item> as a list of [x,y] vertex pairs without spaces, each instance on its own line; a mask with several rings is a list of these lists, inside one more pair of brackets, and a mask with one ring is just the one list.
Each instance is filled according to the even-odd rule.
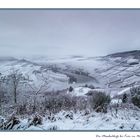
[[[140,8],[0,8],[0,10],[140,10]],[[140,132],[140,130],[0,130],[0,132]]]

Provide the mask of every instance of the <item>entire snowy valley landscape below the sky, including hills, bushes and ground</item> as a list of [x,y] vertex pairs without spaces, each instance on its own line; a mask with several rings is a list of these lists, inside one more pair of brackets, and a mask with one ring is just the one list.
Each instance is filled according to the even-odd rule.
[[0,130],[140,130],[139,50],[0,57],[0,90]]

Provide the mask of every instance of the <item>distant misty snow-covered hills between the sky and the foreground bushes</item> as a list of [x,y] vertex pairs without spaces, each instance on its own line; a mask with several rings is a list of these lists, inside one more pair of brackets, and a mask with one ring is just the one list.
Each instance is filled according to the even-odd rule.
[[[0,72],[7,74],[13,68],[29,75],[36,83],[39,75],[49,76],[51,89],[66,89],[93,84],[117,94],[125,88],[140,84],[140,51],[115,53],[103,57],[70,56],[63,58],[1,58]],[[69,83],[74,77],[76,82]]]

